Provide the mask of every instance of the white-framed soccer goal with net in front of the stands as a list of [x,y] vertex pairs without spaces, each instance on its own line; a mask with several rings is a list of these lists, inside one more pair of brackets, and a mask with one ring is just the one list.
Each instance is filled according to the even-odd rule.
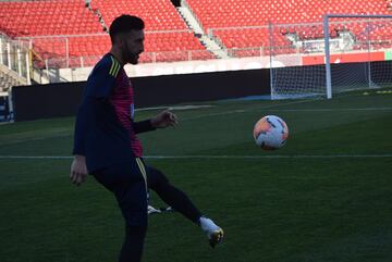
[[392,15],[326,14],[269,35],[272,99],[392,87]]

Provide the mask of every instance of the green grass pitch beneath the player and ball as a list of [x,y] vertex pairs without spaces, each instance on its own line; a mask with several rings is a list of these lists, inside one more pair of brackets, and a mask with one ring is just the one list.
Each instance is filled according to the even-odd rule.
[[[156,214],[144,262],[392,261],[392,93],[203,105],[139,137],[147,163],[224,228],[224,242],[210,249],[179,213]],[[289,125],[280,150],[253,141],[266,114]],[[26,158],[70,157],[73,122],[0,125],[0,262],[117,261],[124,225],[111,194],[93,177],[73,186],[71,159]],[[163,205],[156,195],[152,204]]]

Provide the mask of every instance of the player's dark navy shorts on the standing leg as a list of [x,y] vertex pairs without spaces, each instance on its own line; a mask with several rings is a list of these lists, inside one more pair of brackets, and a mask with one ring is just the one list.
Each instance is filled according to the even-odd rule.
[[112,191],[128,226],[147,226],[147,167],[139,158],[94,172],[91,175]]

